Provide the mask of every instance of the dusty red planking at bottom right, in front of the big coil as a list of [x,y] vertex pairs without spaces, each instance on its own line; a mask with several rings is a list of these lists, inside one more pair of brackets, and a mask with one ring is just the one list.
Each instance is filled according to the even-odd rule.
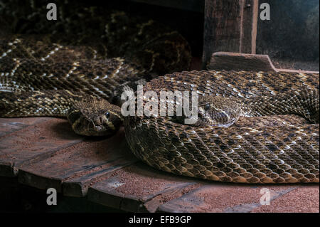
[[[162,204],[159,206],[158,211],[247,213],[259,212],[260,208],[263,211],[263,208],[268,207],[270,208],[269,211],[272,211],[272,206],[260,204],[260,199],[265,195],[265,192],[261,191],[261,189],[269,189],[271,204],[275,201],[279,201],[279,199],[287,198],[287,201],[289,201],[287,203],[292,206],[292,208],[289,209],[293,212],[299,211],[299,206],[297,205],[297,194],[296,196],[293,194],[297,189],[304,189],[304,194],[309,192],[309,194],[319,197],[319,186],[313,185],[303,185],[300,188],[300,186],[296,184],[252,186],[216,182],[202,186],[201,188],[191,191],[178,199]],[[309,199],[314,196],[311,196]],[[309,211],[316,208],[318,208],[319,211],[319,199],[311,204]]]

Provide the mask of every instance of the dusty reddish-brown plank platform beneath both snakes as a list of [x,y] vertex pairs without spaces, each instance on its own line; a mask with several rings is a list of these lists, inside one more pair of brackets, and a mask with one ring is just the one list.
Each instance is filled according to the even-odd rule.
[[[319,184],[244,185],[156,171],[133,157],[121,130],[84,138],[50,117],[0,118],[0,175],[124,211],[319,212]],[[266,192],[267,191],[267,192]],[[270,205],[262,205],[270,195]]]

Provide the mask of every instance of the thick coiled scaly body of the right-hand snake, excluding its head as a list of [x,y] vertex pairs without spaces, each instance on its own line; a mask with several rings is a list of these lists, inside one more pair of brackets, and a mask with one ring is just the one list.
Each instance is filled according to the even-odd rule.
[[[215,181],[319,182],[319,74],[191,71],[151,80],[144,91],[151,89],[196,89],[234,97],[250,105],[255,116],[281,115],[240,117],[229,127],[124,118],[132,151],[152,167]],[[304,115],[302,106],[311,107],[313,124],[287,115]]]

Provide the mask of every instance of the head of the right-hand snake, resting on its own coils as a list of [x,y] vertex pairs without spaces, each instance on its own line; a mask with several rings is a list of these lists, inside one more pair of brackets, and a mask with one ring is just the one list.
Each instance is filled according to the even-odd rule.
[[202,96],[198,100],[198,120],[195,126],[229,127],[240,117],[242,105],[231,97]]

